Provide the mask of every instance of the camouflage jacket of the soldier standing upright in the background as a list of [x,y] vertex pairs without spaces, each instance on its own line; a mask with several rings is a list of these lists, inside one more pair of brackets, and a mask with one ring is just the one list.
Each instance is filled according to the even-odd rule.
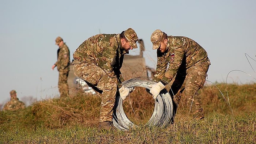
[[63,43],[62,46],[58,49],[57,52],[58,60],[55,62],[55,65],[57,66],[58,71],[69,71],[69,64],[70,64],[70,58],[69,58],[69,49],[68,46]]

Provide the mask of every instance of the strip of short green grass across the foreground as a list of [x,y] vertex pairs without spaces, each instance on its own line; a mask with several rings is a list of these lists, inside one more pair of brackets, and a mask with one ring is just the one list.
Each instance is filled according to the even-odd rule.
[[177,120],[166,128],[139,125],[127,132],[99,132],[95,127],[66,126],[61,129],[38,127],[33,130],[1,126],[0,143],[254,143],[256,114],[212,114],[204,120]]

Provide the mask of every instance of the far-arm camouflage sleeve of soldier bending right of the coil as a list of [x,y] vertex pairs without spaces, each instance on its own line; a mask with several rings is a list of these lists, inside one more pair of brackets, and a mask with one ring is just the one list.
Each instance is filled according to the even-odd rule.
[[157,50],[157,69],[153,77],[153,80],[155,82],[159,82],[163,78],[163,76],[165,75],[167,66],[168,66],[168,62],[166,58],[163,56],[161,52]]

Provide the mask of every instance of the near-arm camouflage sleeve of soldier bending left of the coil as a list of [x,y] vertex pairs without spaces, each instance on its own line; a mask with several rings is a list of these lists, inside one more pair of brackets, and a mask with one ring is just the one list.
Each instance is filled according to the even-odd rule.
[[114,69],[112,64],[113,59],[116,57],[116,46],[108,46],[103,50],[102,53],[102,62],[103,62],[103,70],[108,74],[109,77],[113,79],[113,81],[117,84],[118,88],[120,88],[122,83],[118,80],[117,75],[114,73]]

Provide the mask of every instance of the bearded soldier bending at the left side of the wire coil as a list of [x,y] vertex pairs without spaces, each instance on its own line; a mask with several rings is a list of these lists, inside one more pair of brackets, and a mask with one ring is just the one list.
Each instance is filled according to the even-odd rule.
[[113,127],[112,114],[117,90],[123,100],[132,91],[123,86],[120,68],[124,54],[138,48],[137,41],[137,34],[131,28],[121,34],[97,34],[85,40],[73,54],[75,75],[101,98],[100,129]]

